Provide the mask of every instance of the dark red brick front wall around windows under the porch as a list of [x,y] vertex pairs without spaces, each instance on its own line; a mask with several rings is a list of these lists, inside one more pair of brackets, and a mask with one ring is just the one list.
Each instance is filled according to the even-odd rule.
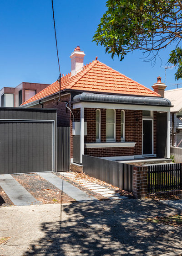
[[[101,142],[106,142],[106,109],[101,110]],[[80,109],[73,110],[75,121],[80,122]],[[84,118],[87,122],[85,142],[96,142],[96,108],[85,108]],[[156,154],[157,113],[154,112],[154,154]],[[116,109],[116,142],[121,141],[121,110]],[[136,142],[135,147],[128,148],[93,148],[85,149],[91,156],[142,155],[142,111],[125,110],[125,141]],[[72,152],[72,149],[71,149]]]

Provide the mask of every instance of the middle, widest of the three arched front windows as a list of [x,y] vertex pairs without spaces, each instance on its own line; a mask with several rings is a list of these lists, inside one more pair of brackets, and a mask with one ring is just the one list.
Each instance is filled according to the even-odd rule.
[[115,131],[115,110],[107,109],[106,110],[106,141],[115,141],[116,131]]

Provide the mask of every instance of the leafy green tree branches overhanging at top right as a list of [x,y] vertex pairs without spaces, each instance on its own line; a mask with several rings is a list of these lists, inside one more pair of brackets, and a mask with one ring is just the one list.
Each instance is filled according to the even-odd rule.
[[[169,42],[182,38],[182,10],[177,0],[107,0],[106,7],[93,41],[103,45],[111,58],[116,55],[122,60],[136,49],[155,58]],[[181,52],[175,53],[176,59],[170,59],[178,63]]]

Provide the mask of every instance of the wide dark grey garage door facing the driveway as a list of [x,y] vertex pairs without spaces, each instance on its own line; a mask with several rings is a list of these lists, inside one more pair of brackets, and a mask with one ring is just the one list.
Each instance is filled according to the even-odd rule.
[[0,122],[0,174],[53,171],[53,125]]

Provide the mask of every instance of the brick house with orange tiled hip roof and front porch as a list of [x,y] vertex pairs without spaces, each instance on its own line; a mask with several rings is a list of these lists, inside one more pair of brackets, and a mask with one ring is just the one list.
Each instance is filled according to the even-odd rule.
[[[159,94],[164,91],[160,81],[152,91],[101,63],[97,57],[84,65],[84,55],[80,47],[71,53],[71,73],[62,75],[61,90],[56,81],[21,107],[57,109],[58,126],[71,130],[74,163],[81,164],[83,154],[110,160],[160,154],[169,158],[171,102]],[[163,113],[166,119],[160,117]],[[157,138],[157,123],[158,133],[165,136]],[[164,150],[157,153],[162,143]]]

